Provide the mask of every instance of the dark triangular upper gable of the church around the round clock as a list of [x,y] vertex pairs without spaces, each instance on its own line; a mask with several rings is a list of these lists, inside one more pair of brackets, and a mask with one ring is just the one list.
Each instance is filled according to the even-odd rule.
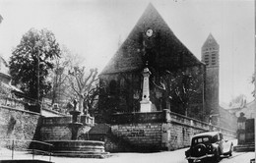
[[[153,30],[152,36],[147,35],[148,29]],[[152,53],[147,53],[146,48],[150,48]],[[152,4],[149,4],[101,75],[142,70],[145,66],[145,54],[153,57],[155,66],[160,68],[171,69],[202,64],[174,35]]]

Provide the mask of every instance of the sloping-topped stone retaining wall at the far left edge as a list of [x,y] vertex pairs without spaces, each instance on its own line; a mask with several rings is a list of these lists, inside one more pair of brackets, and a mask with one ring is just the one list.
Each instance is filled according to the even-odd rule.
[[22,109],[0,105],[0,146],[10,147],[15,140],[18,148],[28,148],[30,141],[36,138],[40,115]]

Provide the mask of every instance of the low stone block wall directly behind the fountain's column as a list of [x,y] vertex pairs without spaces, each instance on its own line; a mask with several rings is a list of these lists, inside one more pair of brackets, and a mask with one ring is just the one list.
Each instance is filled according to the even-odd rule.
[[[43,117],[40,127],[40,140],[59,140],[59,139],[71,139],[71,130],[69,124],[71,124],[71,116],[67,117]],[[90,131],[94,125],[94,118],[89,116],[79,117],[79,122],[84,126],[79,129],[78,138],[84,139],[83,136]]]

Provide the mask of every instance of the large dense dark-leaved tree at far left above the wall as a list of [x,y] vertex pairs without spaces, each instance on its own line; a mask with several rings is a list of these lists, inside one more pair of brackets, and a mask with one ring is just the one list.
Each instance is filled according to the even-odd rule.
[[10,74],[13,84],[21,85],[31,98],[37,97],[39,89],[38,98],[41,99],[51,88],[47,76],[57,57],[60,57],[60,48],[54,34],[47,29],[30,29],[12,52]]

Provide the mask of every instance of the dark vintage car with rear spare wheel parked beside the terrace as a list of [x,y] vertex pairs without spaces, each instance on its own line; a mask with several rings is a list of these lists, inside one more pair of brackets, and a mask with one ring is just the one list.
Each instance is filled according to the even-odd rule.
[[207,132],[192,137],[190,148],[185,151],[186,159],[192,162],[219,162],[221,155],[231,156],[233,143],[224,140],[220,132]]

